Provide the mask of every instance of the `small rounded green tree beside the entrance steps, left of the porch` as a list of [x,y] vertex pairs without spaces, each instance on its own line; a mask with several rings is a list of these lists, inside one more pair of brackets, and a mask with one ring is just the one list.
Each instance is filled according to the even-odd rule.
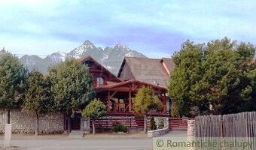
[[94,118],[99,118],[107,115],[107,108],[101,101],[94,99],[87,107],[84,108],[82,115],[84,117],[93,118],[93,134],[95,134]]

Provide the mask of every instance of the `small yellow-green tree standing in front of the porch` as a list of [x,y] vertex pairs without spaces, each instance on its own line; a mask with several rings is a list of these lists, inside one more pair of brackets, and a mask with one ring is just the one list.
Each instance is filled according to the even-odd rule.
[[151,88],[142,86],[133,98],[133,110],[144,114],[144,132],[147,132],[147,113],[163,110],[162,102],[154,95]]

